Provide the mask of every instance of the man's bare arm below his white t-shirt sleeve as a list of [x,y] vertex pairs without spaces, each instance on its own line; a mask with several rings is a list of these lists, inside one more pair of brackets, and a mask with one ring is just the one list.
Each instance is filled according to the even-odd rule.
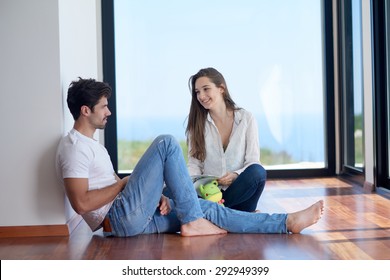
[[126,186],[128,177],[102,189],[88,190],[88,178],[65,178],[65,191],[76,213],[82,215],[112,201]]

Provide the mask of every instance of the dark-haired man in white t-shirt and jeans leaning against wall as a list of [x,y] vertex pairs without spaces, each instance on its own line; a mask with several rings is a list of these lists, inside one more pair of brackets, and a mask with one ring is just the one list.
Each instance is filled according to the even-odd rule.
[[[323,212],[323,201],[292,214],[247,213],[198,199],[177,141],[155,139],[133,173],[120,179],[107,150],[93,139],[104,129],[111,88],[94,79],[73,81],[67,103],[75,120],[57,150],[57,172],[73,209],[92,231],[105,235],[180,232],[183,236],[226,232],[299,233]],[[163,193],[164,184],[171,198]]]

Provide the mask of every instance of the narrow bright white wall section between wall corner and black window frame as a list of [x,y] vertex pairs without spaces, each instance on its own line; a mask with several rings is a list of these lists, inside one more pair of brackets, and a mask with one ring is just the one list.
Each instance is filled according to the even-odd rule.
[[[59,0],[60,23],[60,69],[63,102],[63,135],[73,126],[66,96],[69,84],[78,77],[99,79],[98,69],[101,69],[101,30],[100,7],[96,0]],[[97,13],[98,10],[98,13]],[[99,139],[99,134],[95,134]],[[74,215],[67,199],[65,203],[66,219]]]

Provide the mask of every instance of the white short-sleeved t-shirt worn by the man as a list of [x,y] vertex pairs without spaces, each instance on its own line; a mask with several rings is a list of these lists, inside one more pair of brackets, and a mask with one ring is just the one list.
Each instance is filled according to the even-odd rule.
[[[63,185],[65,178],[88,178],[88,190],[102,189],[116,182],[106,148],[74,128],[58,145],[56,169]],[[100,228],[111,205],[112,202],[82,215],[93,231]]]

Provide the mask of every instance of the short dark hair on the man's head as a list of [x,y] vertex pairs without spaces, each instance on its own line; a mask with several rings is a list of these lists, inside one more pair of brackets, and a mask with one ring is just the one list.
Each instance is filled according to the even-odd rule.
[[112,89],[107,83],[98,82],[95,79],[82,79],[70,83],[68,88],[68,108],[74,120],[80,116],[82,106],[88,106],[92,112],[100,98],[111,97]]

